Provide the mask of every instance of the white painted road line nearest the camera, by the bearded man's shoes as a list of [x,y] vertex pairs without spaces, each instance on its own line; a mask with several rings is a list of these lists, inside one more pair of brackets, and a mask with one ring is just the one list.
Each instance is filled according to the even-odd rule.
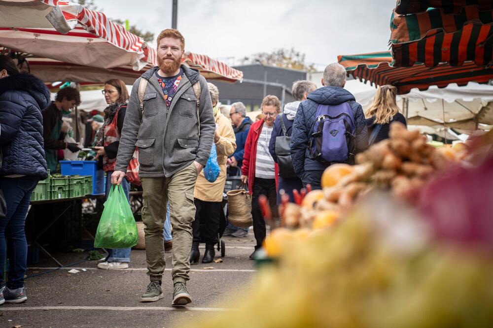
[[50,311],[50,310],[106,310],[106,311],[209,311],[226,312],[234,309],[221,307],[171,307],[171,306],[19,306],[3,305],[1,311]]

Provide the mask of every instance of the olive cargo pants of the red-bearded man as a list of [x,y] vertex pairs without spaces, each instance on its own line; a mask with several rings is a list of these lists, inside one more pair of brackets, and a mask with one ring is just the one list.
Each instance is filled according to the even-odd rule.
[[192,222],[195,218],[193,190],[196,180],[197,169],[194,163],[168,178],[141,178],[144,198],[142,222],[145,227],[145,256],[150,281],[161,280],[166,266],[163,229],[168,201],[173,227],[173,282],[189,280]]

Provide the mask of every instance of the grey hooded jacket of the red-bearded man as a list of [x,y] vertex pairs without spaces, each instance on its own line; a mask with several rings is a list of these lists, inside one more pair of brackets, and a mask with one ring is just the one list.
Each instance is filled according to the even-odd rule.
[[[120,137],[116,171],[127,171],[136,146],[141,177],[170,177],[193,161],[207,164],[215,130],[211,95],[206,79],[197,70],[183,65],[181,68],[183,78],[168,110],[155,74],[159,67],[149,69],[135,81]],[[142,78],[149,83],[141,111],[138,90]],[[199,117],[192,88],[197,81],[201,86]]]

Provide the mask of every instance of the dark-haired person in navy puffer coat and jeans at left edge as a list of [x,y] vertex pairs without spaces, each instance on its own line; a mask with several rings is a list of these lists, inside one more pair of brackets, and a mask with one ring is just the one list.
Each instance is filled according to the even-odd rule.
[[[0,304],[22,303],[27,242],[24,224],[31,193],[48,176],[44,159],[41,109],[50,93],[37,77],[19,73],[14,62],[0,55],[0,189],[6,213],[0,218]],[[5,231],[10,259],[8,281],[3,276],[6,258]]]

